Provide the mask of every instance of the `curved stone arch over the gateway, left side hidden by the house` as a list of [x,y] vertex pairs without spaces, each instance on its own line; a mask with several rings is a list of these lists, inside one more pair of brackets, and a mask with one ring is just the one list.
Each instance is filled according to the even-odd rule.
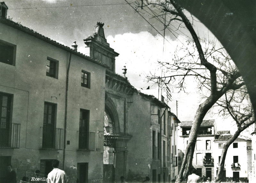
[[113,128],[113,134],[120,134],[119,118],[116,111],[116,106],[108,96],[106,96],[105,100],[105,120],[108,120],[106,121],[107,123],[112,123],[111,127]]

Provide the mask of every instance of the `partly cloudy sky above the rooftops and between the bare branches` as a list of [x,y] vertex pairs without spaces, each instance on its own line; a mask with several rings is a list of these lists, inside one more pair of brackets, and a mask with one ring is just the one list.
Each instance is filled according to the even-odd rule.
[[[7,17],[19,22],[44,36],[66,46],[74,41],[78,51],[85,53],[83,40],[93,33],[97,22],[103,22],[104,33],[110,47],[120,55],[116,57],[116,73],[122,74],[122,68],[127,68],[126,77],[130,83],[146,89],[158,88],[154,83],[148,83],[145,76],[150,73],[161,74],[157,61],[170,60],[177,46],[190,40],[188,31],[172,22],[170,28],[164,31],[161,17],[151,16],[156,12],[140,10],[136,12],[125,0],[5,0],[8,6]],[[132,0],[128,0],[132,2]],[[135,6],[133,6],[135,7]],[[187,13],[187,15],[189,15]],[[146,19],[146,20],[145,20]],[[194,21],[194,27],[200,37],[214,39],[212,33],[200,22]],[[165,34],[165,41],[162,35]],[[176,114],[178,101],[178,118],[193,120],[200,104],[195,91],[194,80],[188,85],[188,93],[173,91],[171,111]],[[210,115],[206,119],[212,118]],[[214,116],[222,122],[221,117]],[[229,128],[230,125],[227,125]]]

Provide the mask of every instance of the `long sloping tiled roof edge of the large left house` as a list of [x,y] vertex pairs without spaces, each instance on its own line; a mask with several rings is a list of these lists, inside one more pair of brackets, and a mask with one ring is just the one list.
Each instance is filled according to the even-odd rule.
[[73,50],[73,49],[69,48],[68,46],[60,44],[59,42],[56,42],[56,41],[54,41],[54,40],[52,40],[52,39],[50,39],[50,38],[48,38],[48,37],[46,37],[46,36],[44,36],[42,34],[37,33],[36,31],[34,31],[34,30],[32,30],[32,29],[30,29],[28,27],[22,26],[21,24],[16,23],[16,22],[14,22],[14,21],[12,21],[10,19],[5,19],[5,18],[0,17],[0,22],[5,24],[5,25],[7,25],[7,26],[16,28],[16,29],[18,29],[18,30],[20,30],[22,32],[25,32],[27,34],[35,36],[36,38],[41,39],[41,40],[43,40],[45,42],[48,42],[48,43],[50,43],[50,44],[52,44],[52,45],[54,45],[56,47],[59,47],[59,48],[61,48],[63,50],[71,52],[74,55],[77,55],[79,57],[85,58],[85,59],[87,59],[87,60],[89,60],[89,61],[91,61],[91,62],[93,62],[95,64],[98,64],[98,65],[101,65],[103,67],[108,68],[108,66],[106,64],[104,64],[104,63],[102,63],[102,62],[100,62],[98,60],[95,60],[92,57],[86,56],[86,55],[84,55],[84,54],[82,54],[80,52],[77,52],[76,50]]

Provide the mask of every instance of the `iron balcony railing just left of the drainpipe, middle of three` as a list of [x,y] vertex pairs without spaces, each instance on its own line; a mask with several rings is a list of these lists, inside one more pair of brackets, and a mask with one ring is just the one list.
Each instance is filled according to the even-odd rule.
[[63,149],[63,129],[43,126],[43,149]]

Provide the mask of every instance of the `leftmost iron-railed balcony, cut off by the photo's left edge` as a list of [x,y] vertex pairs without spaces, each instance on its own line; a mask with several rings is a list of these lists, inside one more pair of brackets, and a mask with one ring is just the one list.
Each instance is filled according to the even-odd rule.
[[1,122],[0,125],[0,147],[20,148],[20,124]]

